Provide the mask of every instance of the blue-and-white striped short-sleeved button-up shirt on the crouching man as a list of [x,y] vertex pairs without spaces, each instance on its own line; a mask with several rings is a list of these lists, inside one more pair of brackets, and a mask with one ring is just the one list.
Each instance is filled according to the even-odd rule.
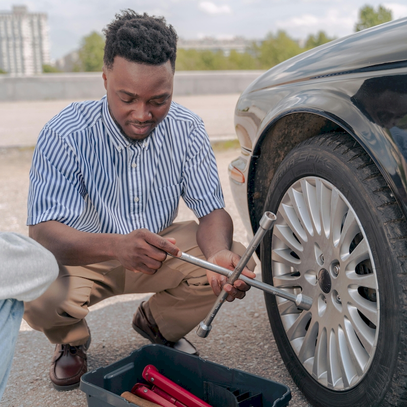
[[224,207],[202,120],[172,102],[144,143],[131,144],[103,97],[70,104],[41,131],[27,224],[56,220],[87,232],[157,233],[177,216],[181,196],[198,218]]

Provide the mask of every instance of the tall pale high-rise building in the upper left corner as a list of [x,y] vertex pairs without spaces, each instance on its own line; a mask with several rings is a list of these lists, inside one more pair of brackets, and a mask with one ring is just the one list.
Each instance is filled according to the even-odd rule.
[[0,69],[12,75],[42,73],[49,64],[48,17],[25,6],[0,12]]

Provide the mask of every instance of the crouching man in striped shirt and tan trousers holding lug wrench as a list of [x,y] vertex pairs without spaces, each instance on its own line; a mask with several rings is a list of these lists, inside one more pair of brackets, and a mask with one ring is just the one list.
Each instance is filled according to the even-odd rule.
[[[171,102],[177,34],[164,18],[127,10],[105,35],[107,98],[74,103],[46,124],[30,174],[30,234],[61,266],[24,318],[57,344],[50,378],[59,390],[77,387],[86,372],[88,306],[154,292],[134,314],[133,328],[154,343],[196,353],[184,335],[208,313],[214,294],[223,287],[231,301],[249,289],[166,259],[184,251],[233,269],[240,258],[234,252],[244,251],[232,246],[202,121]],[[172,223],[181,196],[199,225]]]

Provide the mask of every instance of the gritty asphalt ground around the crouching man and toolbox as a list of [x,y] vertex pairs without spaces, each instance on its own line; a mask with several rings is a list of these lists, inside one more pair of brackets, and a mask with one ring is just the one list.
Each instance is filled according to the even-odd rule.
[[[205,108],[202,108],[203,110]],[[207,111],[210,110],[211,108],[207,109]],[[226,114],[225,110],[223,111],[224,113],[217,112],[218,117]],[[215,122],[214,120],[212,123]],[[222,137],[214,138],[222,139]],[[8,139],[12,139],[11,134],[8,134]],[[246,232],[232,199],[227,177],[227,165],[239,155],[239,150],[225,149],[225,143],[214,145],[226,210],[235,224],[234,239],[247,244]],[[0,148],[0,230],[2,231],[14,231],[24,235],[28,233],[25,218],[28,171],[32,154],[33,149],[30,147]],[[194,219],[193,213],[181,201],[176,221],[191,219]],[[259,266],[256,267],[255,272],[259,275]],[[90,370],[122,359],[131,351],[150,343],[138,335],[131,326],[132,315],[138,304],[147,300],[150,295],[117,296],[90,307],[90,313],[86,317],[92,331],[92,345],[88,352]],[[292,381],[281,360],[270,329],[264,296],[260,290],[252,288],[244,300],[225,304],[217,315],[208,338],[199,338],[195,330],[187,337],[197,346],[203,359],[284,383],[292,392],[290,406],[310,406]],[[1,406],[85,407],[87,405],[85,395],[79,389],[58,392],[51,386],[48,371],[53,348],[54,345],[50,344],[41,332],[32,330],[23,321],[11,375],[0,402]]]

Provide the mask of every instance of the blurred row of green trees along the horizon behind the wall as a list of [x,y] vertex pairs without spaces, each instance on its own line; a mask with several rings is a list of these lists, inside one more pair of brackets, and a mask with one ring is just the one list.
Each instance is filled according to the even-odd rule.
[[[391,20],[390,9],[378,6],[375,10],[371,6],[364,6],[359,10],[355,32]],[[178,49],[176,70],[270,69],[280,62],[334,39],[328,37],[325,32],[319,31],[316,35],[309,35],[301,46],[284,31],[278,31],[276,34],[268,34],[260,43],[253,42],[243,53],[231,50],[228,55],[225,55],[222,51]],[[83,37],[78,51],[79,59],[73,71],[101,71],[104,43],[103,36],[97,32]],[[51,66],[44,66],[44,72],[57,72],[57,70]]]

